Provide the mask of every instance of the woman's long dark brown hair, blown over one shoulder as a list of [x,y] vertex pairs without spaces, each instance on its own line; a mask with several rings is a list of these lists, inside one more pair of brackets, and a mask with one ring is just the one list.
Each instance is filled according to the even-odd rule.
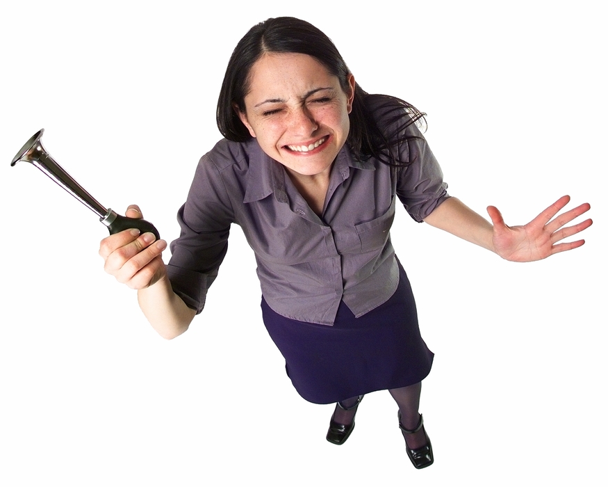
[[[249,91],[249,73],[252,66],[265,52],[307,54],[319,61],[330,74],[340,81],[345,93],[349,93],[348,69],[334,42],[309,22],[294,17],[277,17],[265,20],[249,29],[234,49],[217,100],[217,128],[221,134],[235,142],[251,138],[233,106],[244,111],[245,96]],[[379,112],[381,119],[372,116],[366,100],[368,95],[355,84],[350,118],[350,131],[346,143],[354,157],[376,157],[391,166],[402,166],[394,147],[417,136],[405,135],[406,127],[417,120],[424,120],[411,104],[396,97],[382,95]]]

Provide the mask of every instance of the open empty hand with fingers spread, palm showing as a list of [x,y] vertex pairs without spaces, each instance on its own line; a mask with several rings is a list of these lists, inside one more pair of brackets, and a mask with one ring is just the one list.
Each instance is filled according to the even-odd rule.
[[577,216],[589,211],[591,208],[589,203],[584,203],[553,218],[569,201],[570,196],[562,196],[530,223],[516,227],[505,225],[498,208],[488,207],[488,214],[494,225],[492,241],[495,253],[503,259],[513,262],[532,262],[582,246],[585,243],[584,240],[558,243],[582,232],[593,223],[589,218],[576,225],[564,227]]

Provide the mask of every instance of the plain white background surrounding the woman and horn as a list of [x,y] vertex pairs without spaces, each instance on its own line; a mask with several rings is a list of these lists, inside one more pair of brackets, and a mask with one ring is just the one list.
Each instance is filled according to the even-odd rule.
[[[28,1],[0,9],[0,484],[468,486],[605,482],[607,124],[600,2]],[[327,33],[361,86],[428,113],[450,193],[508,224],[563,194],[587,244],[504,262],[401,211],[393,227],[436,353],[422,412],[436,462],[414,470],[387,392],[343,447],[333,406],[299,398],[233,228],[208,307],[166,342],[102,269],[97,217],[33,166],[44,145],[102,205],[138,203],[167,240],[250,26]],[[169,253],[165,253],[165,261]],[[413,484],[411,484],[413,485]]]

